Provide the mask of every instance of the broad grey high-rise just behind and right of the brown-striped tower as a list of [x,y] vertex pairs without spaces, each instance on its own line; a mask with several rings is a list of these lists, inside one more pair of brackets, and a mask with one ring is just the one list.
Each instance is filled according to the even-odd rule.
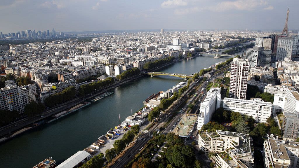
[[248,59],[250,68],[270,66],[271,50],[266,50],[263,47],[247,48],[245,58]]

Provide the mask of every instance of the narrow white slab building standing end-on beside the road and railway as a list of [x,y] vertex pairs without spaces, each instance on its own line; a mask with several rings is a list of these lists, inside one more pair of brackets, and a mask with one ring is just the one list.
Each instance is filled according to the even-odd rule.
[[220,107],[220,90],[220,88],[211,88],[205,100],[200,103],[200,112],[197,117],[197,130],[200,130],[203,125],[210,122],[213,113]]

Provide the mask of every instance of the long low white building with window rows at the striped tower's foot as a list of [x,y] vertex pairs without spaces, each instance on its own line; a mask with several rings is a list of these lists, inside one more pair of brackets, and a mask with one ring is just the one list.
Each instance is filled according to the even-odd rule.
[[223,99],[223,108],[251,116],[257,122],[266,123],[267,119],[271,117],[272,103],[264,102],[258,98],[242,100],[225,97]]

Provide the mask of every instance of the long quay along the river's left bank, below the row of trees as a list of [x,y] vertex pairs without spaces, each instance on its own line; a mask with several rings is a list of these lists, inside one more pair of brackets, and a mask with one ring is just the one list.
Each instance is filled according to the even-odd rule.
[[[152,71],[157,71],[161,68],[164,68],[164,67],[167,67],[175,62],[179,62],[179,61],[182,61],[183,59],[177,59],[177,60],[174,60],[172,62],[169,62],[167,64],[164,64],[164,65],[161,65],[157,68],[154,68],[152,69]],[[125,81],[122,81],[122,82],[119,82],[119,83],[114,83],[112,85],[109,85],[107,86],[106,88],[104,88],[103,90],[101,91],[98,91],[98,92],[94,92],[92,94],[89,94],[89,95],[86,95],[85,97],[76,97],[72,100],[69,100],[68,102],[65,102],[65,103],[61,103],[57,106],[54,106],[54,107],[51,107],[49,109],[47,109],[45,112],[43,112],[41,114],[41,116],[35,116],[35,117],[27,117],[27,118],[24,118],[22,120],[19,120],[19,121],[16,121],[14,123],[11,123],[7,126],[3,126],[0,128],[0,143],[3,143],[7,140],[10,140],[11,138],[15,138],[17,136],[11,136],[13,134],[15,134],[16,132],[20,131],[20,130],[23,130],[22,132],[19,132],[19,134],[22,134],[30,129],[33,129],[33,128],[30,128],[30,129],[25,129],[25,128],[28,128],[28,127],[31,127],[31,125],[33,123],[39,123],[38,126],[40,125],[43,125],[45,124],[45,122],[42,122],[42,120],[45,120],[47,117],[51,117],[52,115],[55,115],[57,113],[60,113],[60,112],[63,112],[65,110],[68,110],[70,109],[71,107],[73,106],[77,106],[78,104],[82,103],[83,101],[90,101],[91,99],[93,99],[94,97],[96,96],[99,96],[103,93],[105,93],[106,91],[109,91],[111,89],[114,89],[120,85],[123,85],[125,83],[128,83],[130,81],[133,81],[133,80],[136,80],[140,77],[143,77],[144,75],[143,74],[140,74],[136,77],[132,77],[132,78],[129,78],[128,80],[125,80]],[[35,126],[36,127],[36,126]],[[34,128],[35,128],[34,127]],[[18,135],[19,135],[18,134]]]

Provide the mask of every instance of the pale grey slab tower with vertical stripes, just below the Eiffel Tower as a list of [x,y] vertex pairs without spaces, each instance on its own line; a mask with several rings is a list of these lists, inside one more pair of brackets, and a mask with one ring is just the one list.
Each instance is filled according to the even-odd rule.
[[284,58],[291,59],[293,50],[293,38],[281,37],[277,40],[276,60],[283,60]]

